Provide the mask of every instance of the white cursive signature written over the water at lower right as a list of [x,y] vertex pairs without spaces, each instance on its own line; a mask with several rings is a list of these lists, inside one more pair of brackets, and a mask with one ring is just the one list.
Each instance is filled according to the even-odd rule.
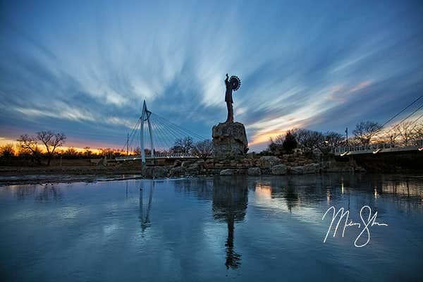
[[[363,212],[368,209],[369,210],[369,216],[367,217],[367,221],[363,219]],[[332,221],[331,221],[331,225],[329,226],[328,232],[326,233],[326,236],[323,240],[323,243],[326,242],[326,238],[328,238],[329,233],[331,232],[331,228],[333,225],[333,221],[336,220],[336,218],[338,217],[338,215],[340,215],[339,219],[338,219],[338,223],[336,223],[336,228],[333,231],[333,237],[335,237],[336,235],[336,231],[338,231],[338,226],[341,223],[343,217],[345,216],[345,222],[343,224],[343,231],[342,231],[342,237],[345,233],[345,228],[347,228],[348,226],[357,226],[359,229],[362,228],[362,224],[363,224],[363,228],[362,231],[360,232],[360,234],[358,234],[357,238],[354,241],[354,245],[355,247],[364,247],[365,245],[367,245],[370,241],[370,231],[369,231],[369,227],[372,227],[374,225],[377,226],[388,226],[388,224],[386,223],[379,223],[376,222],[376,216],[377,216],[377,212],[374,212],[374,215],[372,216],[372,209],[369,206],[363,206],[360,209],[360,218],[362,220],[363,223],[356,223],[352,220],[348,221],[348,216],[350,215],[350,211],[346,211],[344,212],[343,207],[341,207],[341,209],[338,210],[338,212],[336,212],[335,207],[330,207],[323,215],[323,217],[321,218],[321,220],[324,220],[324,217],[326,216],[326,214],[330,211],[333,210],[333,215],[332,215]],[[367,235],[367,241],[366,243],[362,244],[362,245],[358,245],[357,242],[358,240],[362,237],[362,235],[365,234]]]

